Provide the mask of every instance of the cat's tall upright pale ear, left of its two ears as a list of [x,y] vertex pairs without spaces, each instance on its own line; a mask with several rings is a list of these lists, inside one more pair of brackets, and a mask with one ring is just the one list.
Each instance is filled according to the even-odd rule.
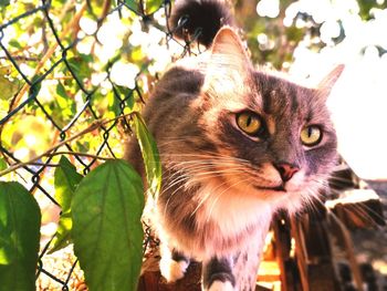
[[205,89],[213,94],[226,91],[243,94],[248,90],[252,65],[242,41],[230,27],[223,27],[215,37],[207,63]]

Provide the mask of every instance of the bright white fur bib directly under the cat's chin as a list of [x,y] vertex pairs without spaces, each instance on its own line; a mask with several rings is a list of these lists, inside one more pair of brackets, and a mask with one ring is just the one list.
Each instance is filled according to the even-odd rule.
[[[202,194],[205,195],[205,194]],[[240,193],[210,195],[196,214],[199,242],[206,252],[221,256],[264,239],[272,218],[271,209]],[[208,193],[207,193],[208,196]]]

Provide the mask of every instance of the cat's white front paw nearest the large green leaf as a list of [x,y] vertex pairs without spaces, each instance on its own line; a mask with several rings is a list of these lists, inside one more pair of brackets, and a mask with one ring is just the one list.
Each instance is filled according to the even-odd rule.
[[160,247],[160,272],[168,282],[175,282],[181,279],[189,266],[189,258],[181,252],[170,250],[167,246]]

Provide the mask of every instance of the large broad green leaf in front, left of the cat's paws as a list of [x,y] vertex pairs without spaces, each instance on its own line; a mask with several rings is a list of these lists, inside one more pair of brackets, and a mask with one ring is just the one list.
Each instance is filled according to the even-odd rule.
[[144,188],[124,160],[87,174],[72,202],[74,251],[95,290],[137,290],[143,259]]

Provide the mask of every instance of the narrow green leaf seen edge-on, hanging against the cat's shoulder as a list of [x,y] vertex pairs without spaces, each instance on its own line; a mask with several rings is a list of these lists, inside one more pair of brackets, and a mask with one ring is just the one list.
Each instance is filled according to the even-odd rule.
[[156,197],[161,187],[161,164],[158,155],[156,142],[145,122],[138,113],[133,115],[135,124],[135,133],[142,149],[142,155],[145,164],[146,178],[148,183],[148,191]]

